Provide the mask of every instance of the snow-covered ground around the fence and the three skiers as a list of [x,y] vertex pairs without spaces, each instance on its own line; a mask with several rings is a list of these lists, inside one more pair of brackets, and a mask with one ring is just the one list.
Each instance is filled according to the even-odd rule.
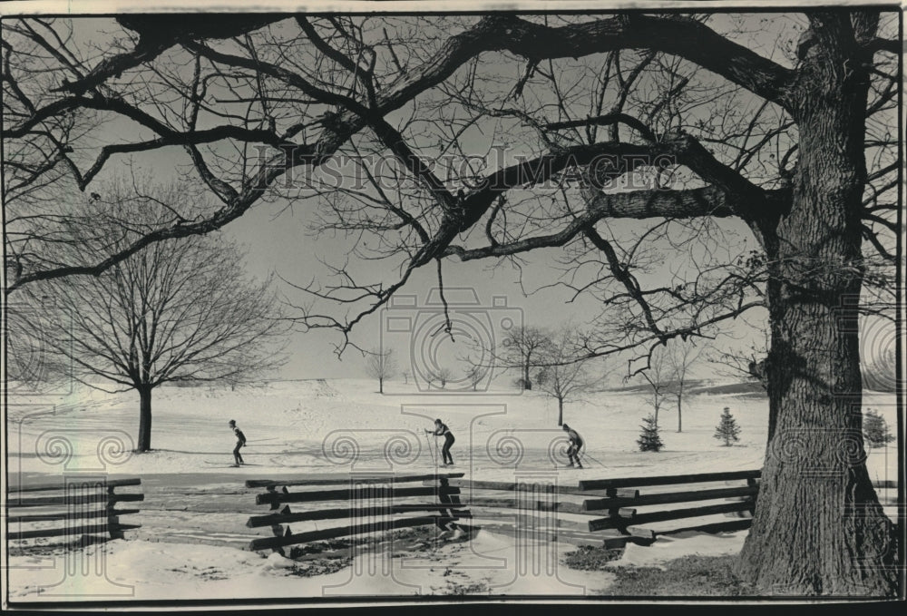
[[[433,471],[434,439],[424,429],[435,417],[456,435],[456,465],[448,470],[471,479],[575,485],[580,479],[757,469],[765,455],[766,397],[727,384],[698,384],[684,402],[679,434],[677,409],[668,401],[659,416],[665,449],[657,454],[641,453],[636,445],[641,419],[650,410],[638,390],[602,391],[568,403],[564,419],[587,442],[582,470],[564,467],[557,406],[541,394],[501,390],[424,396],[414,386],[392,382],[381,396],[375,385],[337,379],[237,391],[161,387],[152,403],[153,451],[141,455],[131,452],[138,431],[134,392],[11,394],[5,426],[12,484],[73,474],[138,476],[145,500],[141,513],[123,520],[142,524],[127,532],[125,541],[69,553],[13,552],[10,599],[598,594],[612,574],[573,571],[562,563],[580,540],[516,541],[493,527],[469,542],[432,543],[413,552],[379,543],[324,572],[314,568],[314,561],[249,552],[244,549],[249,539],[268,536],[268,529],[249,529],[245,522],[267,510],[255,504],[260,490],[245,488],[244,482],[316,473]],[[740,442],[730,447],[713,437],[725,406],[741,428]],[[864,406],[876,408],[894,425],[893,396],[868,394]],[[234,444],[229,419],[249,439],[242,451],[249,465],[240,468],[229,467]],[[893,444],[887,455],[873,450],[867,464],[873,479],[894,479]],[[894,491],[880,495],[884,501]],[[578,517],[574,525],[582,522]],[[309,524],[294,524],[293,531],[318,528]],[[629,545],[614,564],[652,566],[686,554],[736,553],[745,536],[745,531],[675,535],[649,547]]]

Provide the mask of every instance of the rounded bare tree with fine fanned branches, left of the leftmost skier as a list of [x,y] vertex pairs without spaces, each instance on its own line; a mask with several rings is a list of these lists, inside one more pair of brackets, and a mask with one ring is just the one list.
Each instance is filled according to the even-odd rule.
[[[133,228],[159,222],[159,212],[130,207],[116,186],[109,198]],[[91,259],[122,242],[122,230],[93,206],[91,229],[73,230]],[[235,384],[278,367],[286,321],[269,290],[249,279],[239,249],[222,238],[159,242],[123,259],[96,278],[46,280],[24,291],[34,306],[11,331],[40,345],[50,366],[72,367],[80,382],[104,391],[139,392],[138,451],[151,449],[151,392],[164,383]],[[48,305],[49,302],[49,305]],[[59,318],[63,317],[63,318]]]

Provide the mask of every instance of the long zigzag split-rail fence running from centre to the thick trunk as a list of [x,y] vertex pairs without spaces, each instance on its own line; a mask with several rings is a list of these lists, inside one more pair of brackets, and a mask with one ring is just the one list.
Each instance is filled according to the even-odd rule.
[[[246,482],[247,487],[267,489],[265,494],[258,494],[257,503],[268,504],[272,513],[253,516],[247,525],[270,526],[274,536],[253,540],[249,548],[281,551],[283,546],[297,543],[425,524],[444,527],[461,519],[469,520],[468,524],[458,523],[463,528],[477,529],[477,524],[481,524],[493,532],[519,533],[523,537],[528,533],[548,533],[550,539],[572,543],[647,545],[659,535],[748,528],[756,512],[761,474],[760,470],[750,470],[623,477],[583,480],[575,487],[532,481],[532,477],[517,482],[470,480],[463,473],[251,480]],[[401,486],[414,482],[419,486]],[[341,484],[348,485],[339,487]],[[317,486],[336,487],[311,489]],[[289,487],[307,489],[290,492]],[[404,502],[418,496],[432,496],[434,502]],[[296,513],[290,509],[290,504],[295,507],[325,501],[344,504]],[[424,512],[436,513],[400,517]],[[288,527],[288,523],[314,520],[347,523],[304,533],[292,533]]]

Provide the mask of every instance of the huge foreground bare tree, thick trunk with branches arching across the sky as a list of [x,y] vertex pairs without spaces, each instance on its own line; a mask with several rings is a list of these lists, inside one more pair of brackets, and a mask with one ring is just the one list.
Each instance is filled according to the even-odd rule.
[[[60,34],[67,20],[46,21]],[[20,259],[8,291],[96,274],[286,198],[317,202],[318,230],[350,242],[352,259],[394,266],[380,283],[343,265],[336,281],[298,285],[299,322],[336,330],[340,351],[416,269],[522,266],[541,250],[562,255],[556,286],[595,298],[619,326],[590,339],[592,355],[639,351],[645,364],[673,338],[763,315],[771,439],[737,570],[766,592],[893,592],[893,526],[852,412],[859,328],[841,324],[892,313],[897,298],[896,12],[124,15],[91,54],[35,35],[36,23],[3,22],[5,101],[19,102],[5,113],[7,147],[49,127],[53,152],[79,153],[71,173],[91,191],[122,154],[179,146],[174,167],[220,203],[92,262]],[[151,138],[62,130],[67,114],[90,112]],[[477,142],[522,158],[434,172],[449,152],[487,153]],[[388,153],[396,166],[367,164]],[[324,181],[338,155],[364,162],[348,166],[362,187]],[[779,454],[791,442],[804,447],[795,459]]]

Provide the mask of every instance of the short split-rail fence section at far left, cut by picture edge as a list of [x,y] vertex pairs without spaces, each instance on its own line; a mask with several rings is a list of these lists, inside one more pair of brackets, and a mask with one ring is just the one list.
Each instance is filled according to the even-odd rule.
[[[116,488],[128,485],[141,485],[141,479],[93,478],[11,486],[5,504],[7,536],[11,540],[65,537],[83,542],[122,539],[124,531],[141,528],[141,524],[121,523],[120,516],[139,510],[117,509],[116,504],[145,498],[141,493],[116,493]],[[35,492],[50,494],[28,495]]]

